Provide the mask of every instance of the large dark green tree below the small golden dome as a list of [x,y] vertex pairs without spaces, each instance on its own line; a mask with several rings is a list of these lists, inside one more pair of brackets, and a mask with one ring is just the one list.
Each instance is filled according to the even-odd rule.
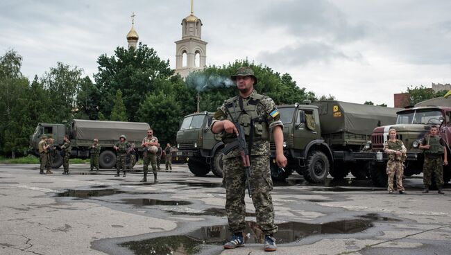
[[169,60],[161,60],[153,49],[141,43],[136,49],[117,47],[113,56],[103,54],[97,63],[99,72],[94,79],[102,95],[101,112],[110,115],[113,103],[109,98],[114,98],[116,91],[121,89],[129,121],[137,121],[139,102],[148,93],[155,92],[155,80],[170,79],[173,75]]

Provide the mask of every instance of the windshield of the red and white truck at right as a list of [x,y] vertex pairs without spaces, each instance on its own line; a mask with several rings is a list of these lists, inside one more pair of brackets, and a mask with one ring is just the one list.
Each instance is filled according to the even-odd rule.
[[397,124],[440,124],[443,114],[438,109],[414,110],[398,114]]

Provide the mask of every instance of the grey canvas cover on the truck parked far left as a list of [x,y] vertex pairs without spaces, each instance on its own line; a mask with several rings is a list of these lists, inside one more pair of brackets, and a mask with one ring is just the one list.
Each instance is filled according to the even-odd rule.
[[141,141],[150,128],[148,123],[121,121],[89,121],[74,119],[72,135],[75,139],[118,140],[125,134],[128,141]]

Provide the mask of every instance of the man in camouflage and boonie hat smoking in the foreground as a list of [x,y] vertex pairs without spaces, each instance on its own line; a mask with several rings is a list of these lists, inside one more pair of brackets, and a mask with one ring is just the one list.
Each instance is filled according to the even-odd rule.
[[[277,249],[273,234],[277,231],[274,225],[274,208],[271,198],[273,181],[269,169],[269,136],[273,132],[276,161],[278,166],[287,165],[287,158],[283,154],[283,124],[274,101],[268,96],[257,94],[254,85],[257,78],[250,67],[240,67],[235,76],[239,96],[226,100],[214,114],[211,125],[213,133],[221,133],[222,140],[232,143],[237,139],[237,128],[234,119],[244,127],[246,142],[250,155],[250,183],[252,200],[257,214],[257,224],[264,232],[264,250],[273,252]],[[253,142],[249,142],[253,141]],[[223,157],[223,182],[226,186],[226,212],[229,231],[232,239],[224,245],[226,249],[233,249],[244,245],[243,231],[246,228],[246,204],[244,193],[246,175],[242,166],[239,150],[235,148]]]

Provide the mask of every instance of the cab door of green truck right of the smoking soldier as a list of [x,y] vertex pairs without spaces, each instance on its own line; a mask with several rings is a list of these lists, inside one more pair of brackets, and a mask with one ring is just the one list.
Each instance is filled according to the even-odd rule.
[[312,109],[298,109],[294,123],[294,147],[304,150],[307,144],[318,138],[318,116]]

